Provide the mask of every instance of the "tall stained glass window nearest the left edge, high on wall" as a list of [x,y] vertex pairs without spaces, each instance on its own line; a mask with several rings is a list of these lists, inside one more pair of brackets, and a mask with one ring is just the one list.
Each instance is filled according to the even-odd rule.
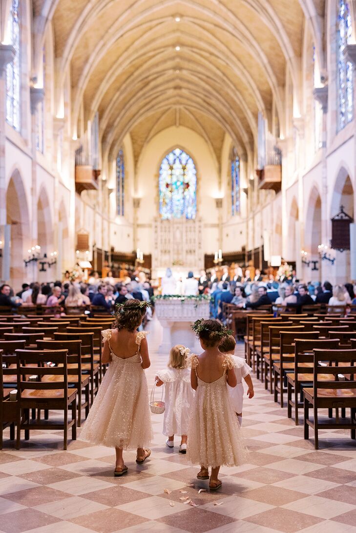
[[20,25],[19,0],[12,0],[7,19],[9,43],[15,49],[14,59],[6,66],[6,121],[20,130]]

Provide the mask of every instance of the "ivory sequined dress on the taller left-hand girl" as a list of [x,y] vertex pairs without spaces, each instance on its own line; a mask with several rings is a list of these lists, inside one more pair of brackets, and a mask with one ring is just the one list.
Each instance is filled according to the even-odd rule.
[[81,440],[124,449],[145,448],[151,441],[147,380],[140,355],[140,344],[146,334],[137,334],[135,355],[122,359],[110,346],[112,330],[102,332],[104,341],[109,343],[112,361],[83,426]]

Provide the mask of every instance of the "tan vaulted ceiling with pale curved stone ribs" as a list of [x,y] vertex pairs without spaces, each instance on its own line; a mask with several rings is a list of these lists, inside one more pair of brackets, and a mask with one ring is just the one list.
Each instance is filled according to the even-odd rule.
[[[57,86],[70,68],[73,123],[99,111],[108,153],[135,157],[186,125],[219,157],[227,132],[251,155],[259,110],[281,121],[289,66],[298,87],[305,18],[322,39],[325,0],[33,0],[52,20]],[[46,13],[44,13],[44,10]],[[320,43],[319,43],[320,44]],[[179,47],[179,50],[177,50]]]

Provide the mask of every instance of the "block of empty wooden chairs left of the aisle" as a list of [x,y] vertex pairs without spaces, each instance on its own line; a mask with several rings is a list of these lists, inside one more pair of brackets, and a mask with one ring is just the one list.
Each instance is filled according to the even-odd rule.
[[[113,317],[28,313],[25,317],[3,314],[1,320],[0,449],[8,426],[12,440],[17,427],[17,448],[21,430],[28,439],[31,429],[63,429],[66,449],[68,430],[72,427],[75,439],[82,410],[86,417],[105,373],[101,332],[112,327]],[[17,390],[15,399],[12,389]],[[70,420],[68,409],[72,410]],[[64,421],[51,423],[50,410],[64,411]]]

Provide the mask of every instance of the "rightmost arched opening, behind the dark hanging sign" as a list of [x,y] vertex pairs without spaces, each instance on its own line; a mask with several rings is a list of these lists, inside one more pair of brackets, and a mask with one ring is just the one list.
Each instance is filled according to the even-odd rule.
[[[354,196],[352,182],[349,173],[344,167],[342,167],[337,175],[335,181],[335,188],[333,197],[331,198],[331,211],[330,219],[333,218],[338,212],[340,207],[343,206],[345,213],[354,217]],[[330,222],[331,225],[331,222]],[[330,228],[331,235],[331,228]],[[336,261],[334,265],[330,265],[330,279],[333,279],[334,283],[345,283],[351,280],[351,264],[350,264],[350,251],[336,252]]]

